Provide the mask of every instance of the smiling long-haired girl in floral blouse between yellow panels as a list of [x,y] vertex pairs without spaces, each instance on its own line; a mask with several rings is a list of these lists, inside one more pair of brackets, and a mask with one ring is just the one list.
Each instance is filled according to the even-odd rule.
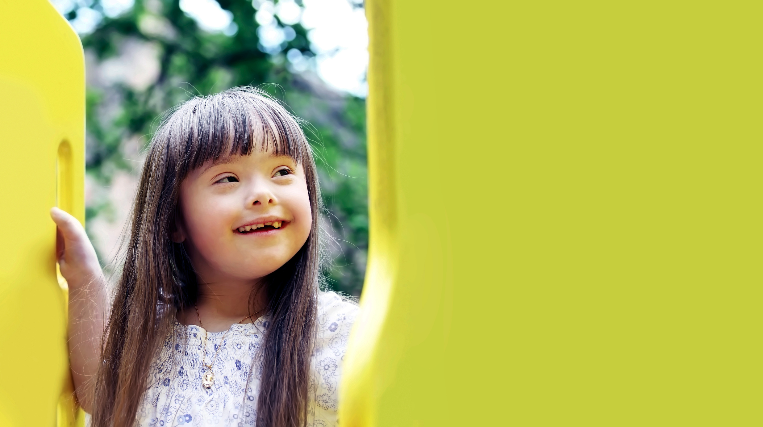
[[108,322],[95,251],[53,209],[92,425],[336,425],[357,306],[319,291],[319,212],[307,139],[256,89],[191,99],[156,132]]

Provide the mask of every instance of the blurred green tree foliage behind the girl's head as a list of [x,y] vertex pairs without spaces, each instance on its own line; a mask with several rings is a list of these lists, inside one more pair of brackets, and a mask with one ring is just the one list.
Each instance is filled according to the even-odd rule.
[[[219,2],[233,12],[238,31],[232,37],[200,30],[176,0],[138,1],[132,11],[106,18],[83,37],[85,50],[98,63],[118,57],[130,43],[149,43],[159,55],[158,77],[146,87],[89,83],[87,172],[108,186],[115,170],[133,170],[135,164],[123,158],[125,141],[139,137],[147,144],[163,113],[194,95],[241,85],[266,89],[306,121],[305,132],[317,153],[327,225],[336,237],[329,247],[333,267],[327,277],[333,289],[359,295],[368,244],[365,101],[330,91],[314,75],[289,72],[282,53],[271,56],[258,49],[251,2]],[[309,54],[306,31],[299,24],[293,28],[296,37],[284,50]],[[89,206],[88,218],[108,209],[105,204]]]

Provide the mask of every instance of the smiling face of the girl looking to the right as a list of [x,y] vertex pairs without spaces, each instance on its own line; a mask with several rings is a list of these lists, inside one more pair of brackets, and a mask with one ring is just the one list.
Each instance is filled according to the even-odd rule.
[[187,242],[202,283],[267,276],[297,254],[312,226],[302,166],[259,150],[189,173],[180,209],[172,240]]

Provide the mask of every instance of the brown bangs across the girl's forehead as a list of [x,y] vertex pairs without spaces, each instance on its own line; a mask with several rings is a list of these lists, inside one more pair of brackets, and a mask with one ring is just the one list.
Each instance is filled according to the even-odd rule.
[[190,99],[164,126],[179,143],[185,172],[208,161],[265,150],[297,163],[311,158],[310,146],[296,119],[265,92],[253,88]]

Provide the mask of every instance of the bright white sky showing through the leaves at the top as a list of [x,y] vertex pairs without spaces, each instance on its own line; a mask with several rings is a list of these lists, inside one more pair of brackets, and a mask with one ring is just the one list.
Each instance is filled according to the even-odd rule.
[[[75,15],[70,19],[79,34],[95,31],[104,18],[116,18],[134,6],[134,0],[51,0],[63,14]],[[204,31],[236,34],[233,14],[221,8],[216,0],[179,0],[186,15],[193,18]],[[368,23],[362,0],[253,0],[253,18],[259,24],[259,48],[272,55],[278,54],[286,41],[293,40],[291,27],[301,24],[307,29],[307,38],[314,57],[304,56],[298,50],[287,53],[291,69],[296,73],[313,69],[336,89],[365,97],[368,85],[365,72],[369,63]]]

